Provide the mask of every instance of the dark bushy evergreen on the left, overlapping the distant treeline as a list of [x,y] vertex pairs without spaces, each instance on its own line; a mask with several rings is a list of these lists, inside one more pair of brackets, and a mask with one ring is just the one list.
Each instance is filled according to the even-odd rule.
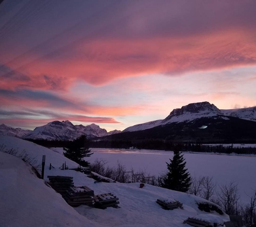
[[90,157],[93,154],[90,153],[88,143],[86,135],[81,135],[63,148],[65,150],[64,156],[77,162],[80,166],[89,166],[89,162],[84,160],[85,157]]

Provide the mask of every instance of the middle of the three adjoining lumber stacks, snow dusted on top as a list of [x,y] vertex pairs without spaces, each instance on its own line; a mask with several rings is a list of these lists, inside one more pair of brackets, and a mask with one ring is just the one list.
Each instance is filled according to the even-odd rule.
[[78,207],[79,205],[92,206],[94,202],[94,191],[87,186],[72,186],[69,190],[66,190],[64,199],[71,207]]

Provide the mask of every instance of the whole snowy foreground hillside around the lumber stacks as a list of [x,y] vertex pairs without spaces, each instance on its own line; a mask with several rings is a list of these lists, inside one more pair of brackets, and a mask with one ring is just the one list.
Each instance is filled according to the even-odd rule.
[[[139,183],[94,183],[93,179],[80,172],[60,170],[61,162],[66,161],[70,168],[77,164],[57,152],[15,137],[0,136],[0,141],[6,148],[25,149],[38,162],[46,154],[45,180],[47,175],[73,176],[75,186],[86,185],[95,194],[113,193],[119,197],[121,207],[101,210],[81,205],[73,209],[59,194],[31,174],[21,160],[0,152],[0,203],[4,204],[4,212],[0,212],[0,226],[134,227],[159,226],[161,222],[161,226],[183,227],[183,221],[188,217],[210,221],[218,219],[220,222],[229,220],[225,214],[200,211],[197,203],[207,202],[203,198],[150,185],[139,188]],[[50,163],[56,168],[50,170]],[[184,209],[163,210],[156,203],[157,198],[178,200]]]

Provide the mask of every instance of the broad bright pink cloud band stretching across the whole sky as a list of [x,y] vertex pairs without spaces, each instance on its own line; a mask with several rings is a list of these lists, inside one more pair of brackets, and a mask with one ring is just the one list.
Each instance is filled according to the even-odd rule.
[[[19,67],[30,80],[8,80],[0,88],[65,90],[79,80],[102,86],[114,79],[148,74],[177,75],[256,65],[254,33],[229,30],[190,37],[95,39],[68,46]],[[10,68],[15,66],[9,66]]]

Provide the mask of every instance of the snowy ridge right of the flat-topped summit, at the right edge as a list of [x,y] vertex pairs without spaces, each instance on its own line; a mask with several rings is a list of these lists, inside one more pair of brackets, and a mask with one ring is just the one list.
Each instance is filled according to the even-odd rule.
[[256,121],[256,107],[233,109],[233,110],[221,110],[224,115],[239,117],[245,120]]

